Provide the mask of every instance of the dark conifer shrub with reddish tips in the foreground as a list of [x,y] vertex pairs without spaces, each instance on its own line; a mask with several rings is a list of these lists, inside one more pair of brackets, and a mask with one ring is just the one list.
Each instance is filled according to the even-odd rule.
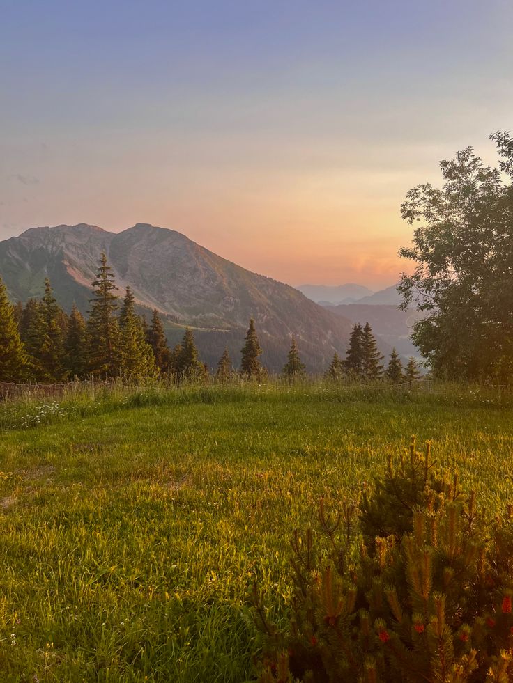
[[464,683],[513,680],[513,519],[486,519],[415,448],[320,533],[293,536],[285,632],[254,609],[261,683]]

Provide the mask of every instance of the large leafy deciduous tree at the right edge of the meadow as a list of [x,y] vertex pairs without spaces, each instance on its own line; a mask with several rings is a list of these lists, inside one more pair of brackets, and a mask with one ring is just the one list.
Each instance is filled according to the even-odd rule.
[[472,148],[441,162],[444,184],[406,195],[404,220],[422,224],[399,254],[415,263],[398,290],[425,317],[412,339],[435,376],[513,378],[513,138],[495,133],[497,168]]

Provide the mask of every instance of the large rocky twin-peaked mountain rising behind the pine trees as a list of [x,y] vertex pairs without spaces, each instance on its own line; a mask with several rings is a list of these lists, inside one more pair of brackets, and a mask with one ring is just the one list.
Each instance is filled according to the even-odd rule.
[[[352,325],[339,311],[217,256],[175,230],[146,223],[121,233],[85,223],[30,228],[0,242],[0,275],[10,297],[20,301],[39,297],[49,277],[61,306],[69,311],[76,303],[85,313],[102,251],[120,295],[130,285],[141,313],[157,308],[171,345],[181,340],[185,326],[192,327],[209,366],[215,366],[225,345],[238,364],[250,317],[270,370],[281,370],[291,337],[312,372],[326,368],[335,351],[345,354]],[[390,351],[381,340],[378,346]]]

